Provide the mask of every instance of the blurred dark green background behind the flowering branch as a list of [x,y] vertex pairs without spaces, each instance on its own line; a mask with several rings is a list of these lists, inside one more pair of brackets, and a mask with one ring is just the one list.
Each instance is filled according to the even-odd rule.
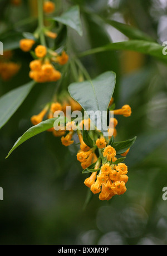
[[[32,32],[35,15],[30,1],[1,8],[0,32]],[[58,2],[58,1],[57,1]],[[71,31],[73,50],[84,51],[128,40],[99,17],[127,22],[153,37],[167,41],[167,3],[163,0],[73,0],[81,10],[84,36]],[[4,5],[5,5],[4,4]],[[14,24],[14,25],[13,25]],[[7,27],[8,26],[8,27]],[[1,41],[1,36],[0,36]],[[17,49],[14,59],[22,63],[9,82],[0,81],[0,94],[28,82],[30,54]],[[14,142],[32,125],[30,118],[50,101],[54,84],[38,84],[0,131],[0,244],[167,244],[167,69],[166,65],[129,51],[109,51],[81,59],[91,77],[113,70],[117,74],[116,108],[129,104],[132,115],[118,117],[116,140],[137,136],[127,155],[127,192],[109,202],[92,197],[84,208],[87,188],[76,160],[76,145],[65,148],[49,132],[26,141],[8,159]]]

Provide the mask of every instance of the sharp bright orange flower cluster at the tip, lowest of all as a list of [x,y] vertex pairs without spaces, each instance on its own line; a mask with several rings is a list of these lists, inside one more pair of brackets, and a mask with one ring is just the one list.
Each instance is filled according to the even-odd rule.
[[122,195],[126,192],[127,166],[125,164],[103,164],[99,175],[97,172],[85,179],[85,185],[92,193],[100,193],[100,200],[110,200],[115,195]]

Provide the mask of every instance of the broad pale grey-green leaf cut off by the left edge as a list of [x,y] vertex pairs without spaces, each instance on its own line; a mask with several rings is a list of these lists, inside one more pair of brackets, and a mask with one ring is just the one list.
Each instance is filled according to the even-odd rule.
[[29,82],[24,86],[13,89],[0,98],[0,129],[11,118],[24,99],[30,93],[35,82]]

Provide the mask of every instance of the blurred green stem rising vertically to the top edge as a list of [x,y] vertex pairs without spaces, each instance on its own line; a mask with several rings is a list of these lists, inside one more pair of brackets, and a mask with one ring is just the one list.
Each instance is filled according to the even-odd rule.
[[43,33],[44,21],[43,21],[43,0],[38,0],[38,26],[40,30],[40,41],[42,45],[46,46],[45,35]]

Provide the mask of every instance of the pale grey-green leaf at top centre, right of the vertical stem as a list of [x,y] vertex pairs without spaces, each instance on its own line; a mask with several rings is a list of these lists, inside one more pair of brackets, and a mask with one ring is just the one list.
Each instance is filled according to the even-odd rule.
[[61,16],[53,17],[52,20],[61,22],[62,24],[71,27],[77,33],[82,36],[82,26],[80,20],[80,7],[72,6],[66,12],[64,12]]

